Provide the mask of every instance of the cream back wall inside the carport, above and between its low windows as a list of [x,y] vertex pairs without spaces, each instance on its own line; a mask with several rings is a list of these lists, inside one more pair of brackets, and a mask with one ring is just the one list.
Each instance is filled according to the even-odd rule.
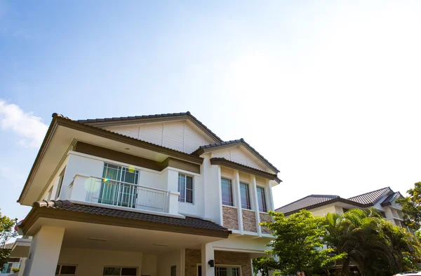
[[77,265],[77,276],[103,275],[105,266],[135,267],[140,275],[142,252],[62,248],[58,263]]

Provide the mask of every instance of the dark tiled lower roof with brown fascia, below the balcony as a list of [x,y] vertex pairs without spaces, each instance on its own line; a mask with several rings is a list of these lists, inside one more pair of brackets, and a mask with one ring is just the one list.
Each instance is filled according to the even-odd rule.
[[227,238],[232,231],[225,227],[206,221],[186,216],[178,219],[168,216],[159,216],[132,211],[123,211],[107,207],[93,207],[79,205],[69,200],[34,202],[32,209],[19,228],[23,233],[29,229],[39,218],[60,219],[65,221],[79,221],[97,223],[110,226],[140,228],[190,235]]

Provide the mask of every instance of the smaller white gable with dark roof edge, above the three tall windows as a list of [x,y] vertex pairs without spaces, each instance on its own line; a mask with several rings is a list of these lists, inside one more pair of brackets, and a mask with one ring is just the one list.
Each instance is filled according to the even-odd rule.
[[[222,151],[224,149],[225,151]],[[246,165],[248,167],[254,167],[258,170],[265,170],[266,168],[269,168],[269,170],[275,174],[279,172],[272,163],[250,146],[250,144],[244,141],[243,138],[200,146],[199,149],[196,149],[196,151],[192,154],[195,156],[201,156],[203,153],[207,152],[212,152],[213,157],[225,158],[235,163]]]

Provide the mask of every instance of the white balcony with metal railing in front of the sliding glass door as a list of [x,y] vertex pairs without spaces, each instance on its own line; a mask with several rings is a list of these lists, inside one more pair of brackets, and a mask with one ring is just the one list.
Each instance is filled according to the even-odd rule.
[[179,215],[178,192],[80,174],[69,187],[71,200]]

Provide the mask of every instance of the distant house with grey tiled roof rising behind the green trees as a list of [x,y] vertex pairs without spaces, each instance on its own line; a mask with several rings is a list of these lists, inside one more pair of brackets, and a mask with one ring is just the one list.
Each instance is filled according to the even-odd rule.
[[389,187],[356,195],[352,198],[341,198],[339,195],[308,195],[276,209],[276,212],[282,212],[289,216],[301,209],[307,209],[314,216],[324,216],[328,213],[343,214],[354,208],[375,208],[387,221],[406,228],[403,224],[401,205],[396,202],[399,198],[403,198],[403,195],[400,192],[395,193]]

